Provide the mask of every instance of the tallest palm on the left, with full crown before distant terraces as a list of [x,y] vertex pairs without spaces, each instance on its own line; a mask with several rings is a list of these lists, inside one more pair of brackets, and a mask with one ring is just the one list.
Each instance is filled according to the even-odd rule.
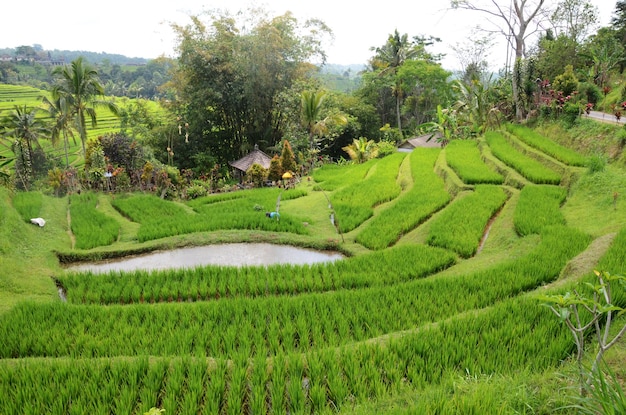
[[84,156],[85,142],[87,141],[87,118],[91,120],[92,127],[95,127],[97,124],[96,106],[107,106],[115,115],[118,114],[117,106],[112,102],[96,99],[98,96],[104,95],[104,87],[100,84],[98,72],[84,64],[81,57],[73,60],[70,66],[56,68],[54,74],[60,77],[58,83],[52,88],[52,99],[53,101],[64,101],[63,107],[73,118],[75,128],[80,136]]

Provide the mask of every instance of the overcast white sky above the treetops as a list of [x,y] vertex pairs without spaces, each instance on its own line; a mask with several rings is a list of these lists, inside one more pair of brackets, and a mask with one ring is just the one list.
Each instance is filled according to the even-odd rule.
[[[506,0],[504,0],[506,1]],[[548,0],[556,2],[556,0]],[[369,4],[368,4],[369,3]],[[607,25],[616,0],[593,0]],[[457,66],[451,46],[463,42],[484,16],[476,12],[446,10],[448,0],[364,2],[341,0],[84,0],[9,1],[2,5],[0,47],[40,44],[45,49],[119,53],[129,57],[174,57],[175,36],[169,22],[186,24],[190,14],[206,8],[232,12],[250,5],[262,6],[271,15],[291,11],[298,19],[316,17],[334,32],[325,50],[329,63],[365,64],[372,46],[382,46],[395,29],[409,37],[434,35],[442,39],[437,52],[447,54],[444,66]],[[484,22],[483,22],[484,23]],[[490,61],[502,67],[506,47],[493,48]]]

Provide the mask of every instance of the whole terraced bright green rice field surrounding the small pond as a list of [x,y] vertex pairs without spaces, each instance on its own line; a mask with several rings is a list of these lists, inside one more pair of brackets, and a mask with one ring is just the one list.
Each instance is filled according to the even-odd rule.
[[[518,134],[324,166],[282,193],[1,189],[0,413],[554,413],[571,403],[574,343],[536,296],[626,272],[626,172]],[[346,259],[62,264],[257,241]],[[620,375],[624,351],[609,355]]]

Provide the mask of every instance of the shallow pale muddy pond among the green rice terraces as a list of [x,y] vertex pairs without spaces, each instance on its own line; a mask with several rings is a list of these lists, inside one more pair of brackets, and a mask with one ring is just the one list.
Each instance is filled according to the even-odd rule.
[[343,255],[337,252],[268,243],[238,243],[179,248],[106,262],[85,262],[67,269],[100,273],[137,269],[192,268],[203,265],[315,264],[342,258],[344,258]]

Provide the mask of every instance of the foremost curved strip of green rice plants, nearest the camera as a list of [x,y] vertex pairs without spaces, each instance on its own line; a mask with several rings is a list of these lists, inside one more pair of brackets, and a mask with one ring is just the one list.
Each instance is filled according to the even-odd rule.
[[[115,406],[116,413],[156,404],[175,413],[242,413],[248,405],[261,413],[347,409],[451,376],[554,367],[570,352],[571,341],[547,313],[530,300],[514,299],[403,336],[337,352],[279,355],[268,365],[258,358],[236,358],[228,365],[219,359],[211,367],[190,358],[0,362],[0,409],[8,414],[65,413],[70,405],[98,412]],[[480,403],[472,406],[491,413]]]

